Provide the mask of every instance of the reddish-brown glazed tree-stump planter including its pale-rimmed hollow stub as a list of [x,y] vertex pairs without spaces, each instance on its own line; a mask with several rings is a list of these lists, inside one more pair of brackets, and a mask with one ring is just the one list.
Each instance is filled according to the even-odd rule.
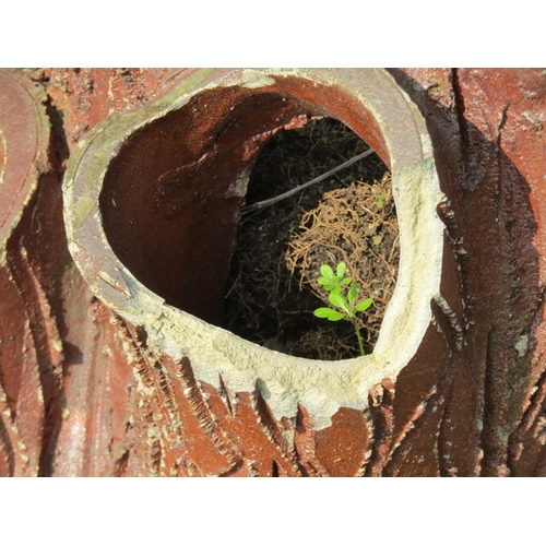
[[[0,249],[2,474],[545,474],[544,73],[32,76],[56,153],[25,159],[38,191]],[[249,170],[304,115],[346,123],[393,175],[400,274],[361,358],[215,325]]]

